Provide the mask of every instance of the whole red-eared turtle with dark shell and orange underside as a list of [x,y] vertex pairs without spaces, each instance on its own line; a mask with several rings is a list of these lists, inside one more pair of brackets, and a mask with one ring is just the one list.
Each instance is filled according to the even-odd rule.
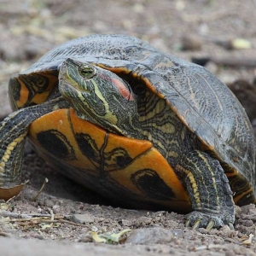
[[50,50],[9,80],[0,185],[19,182],[26,137],[49,165],[125,207],[235,222],[255,203],[253,129],[206,68],[139,38],[96,34]]

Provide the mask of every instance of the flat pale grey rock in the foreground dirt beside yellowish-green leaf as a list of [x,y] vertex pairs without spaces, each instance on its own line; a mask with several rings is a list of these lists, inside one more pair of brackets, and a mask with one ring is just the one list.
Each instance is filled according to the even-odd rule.
[[163,228],[140,229],[132,232],[125,243],[131,244],[164,244],[172,241],[175,237],[183,237],[183,230],[166,230]]

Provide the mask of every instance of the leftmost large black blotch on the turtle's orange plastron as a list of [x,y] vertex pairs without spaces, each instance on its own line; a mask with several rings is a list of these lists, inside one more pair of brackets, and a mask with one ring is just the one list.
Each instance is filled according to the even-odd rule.
[[72,145],[60,131],[54,129],[40,131],[37,134],[37,139],[38,143],[56,158],[63,160],[76,159]]

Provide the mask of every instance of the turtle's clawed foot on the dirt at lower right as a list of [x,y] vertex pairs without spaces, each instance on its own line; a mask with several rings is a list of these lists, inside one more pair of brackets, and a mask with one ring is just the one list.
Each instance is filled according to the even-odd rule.
[[234,221],[235,218],[233,216],[222,216],[221,214],[195,211],[188,214],[186,227],[192,226],[193,230],[197,228],[207,228],[207,231],[209,231],[212,230],[212,228],[219,228],[227,224],[230,230],[234,230]]

